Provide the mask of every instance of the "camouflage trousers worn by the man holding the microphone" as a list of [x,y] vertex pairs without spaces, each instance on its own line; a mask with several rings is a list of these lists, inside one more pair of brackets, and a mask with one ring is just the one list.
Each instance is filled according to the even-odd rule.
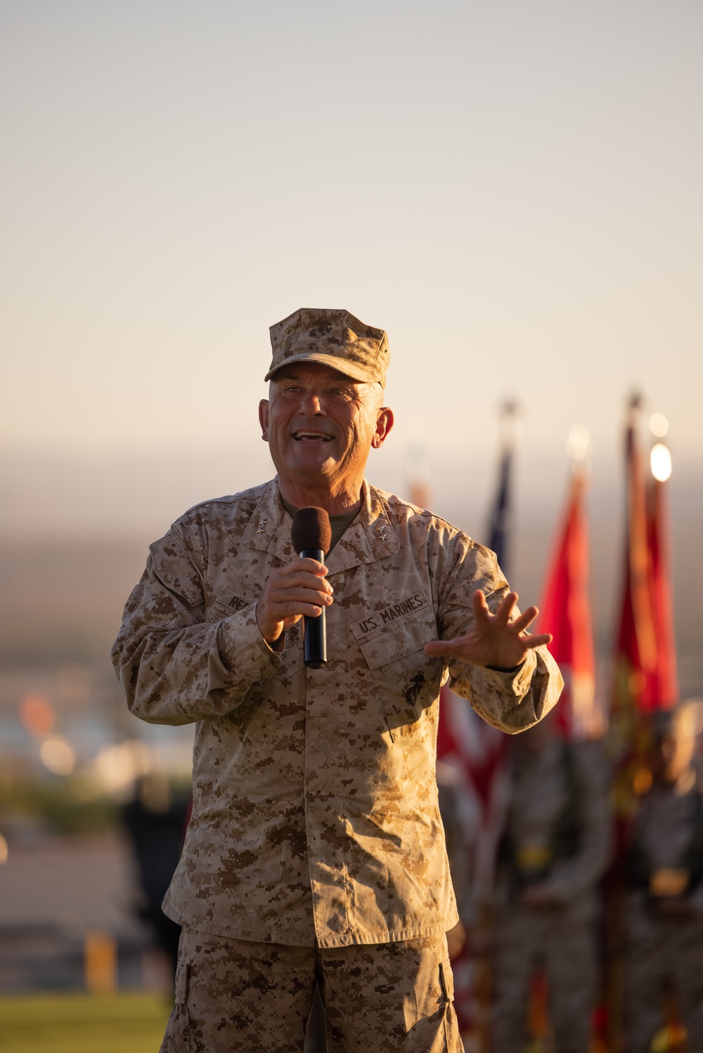
[[302,1053],[315,981],[329,1053],[462,1053],[444,935],[320,949],[183,929],[161,1053]]

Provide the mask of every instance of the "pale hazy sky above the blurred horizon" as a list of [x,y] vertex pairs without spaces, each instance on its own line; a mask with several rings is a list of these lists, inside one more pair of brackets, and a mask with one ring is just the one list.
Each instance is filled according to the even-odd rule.
[[389,334],[384,485],[483,500],[506,396],[525,493],[575,423],[611,485],[632,385],[700,484],[702,55],[700,0],[3,0],[0,525],[268,477],[298,306]]

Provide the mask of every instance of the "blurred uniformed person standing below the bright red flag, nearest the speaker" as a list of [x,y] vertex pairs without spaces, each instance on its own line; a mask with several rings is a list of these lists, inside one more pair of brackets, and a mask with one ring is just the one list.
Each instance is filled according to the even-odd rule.
[[510,740],[509,762],[495,905],[494,1048],[523,1053],[534,1037],[530,993],[546,979],[553,1048],[587,1053],[597,887],[611,843],[607,764],[598,742],[563,740],[551,718]]

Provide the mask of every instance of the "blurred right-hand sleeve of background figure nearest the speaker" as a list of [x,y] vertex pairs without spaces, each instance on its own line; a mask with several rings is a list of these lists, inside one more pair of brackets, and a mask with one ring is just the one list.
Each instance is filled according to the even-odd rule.
[[569,902],[594,888],[605,873],[612,851],[608,810],[608,764],[600,743],[573,748],[581,832],[578,852],[554,863],[545,886],[561,902]]

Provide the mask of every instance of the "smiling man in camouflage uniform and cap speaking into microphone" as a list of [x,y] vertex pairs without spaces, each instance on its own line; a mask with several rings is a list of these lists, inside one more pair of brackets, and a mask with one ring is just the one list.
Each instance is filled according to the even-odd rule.
[[[196,724],[162,1050],[301,1051],[317,980],[330,1051],[455,1053],[440,687],[513,733],[562,680],[494,555],[366,481],[393,424],[386,333],[301,309],[271,344],[259,421],[276,478],[151,547],[113,649],[134,714]],[[325,563],[291,537],[310,508],[330,534],[297,549],[328,549]],[[306,664],[321,612],[326,654]]]

